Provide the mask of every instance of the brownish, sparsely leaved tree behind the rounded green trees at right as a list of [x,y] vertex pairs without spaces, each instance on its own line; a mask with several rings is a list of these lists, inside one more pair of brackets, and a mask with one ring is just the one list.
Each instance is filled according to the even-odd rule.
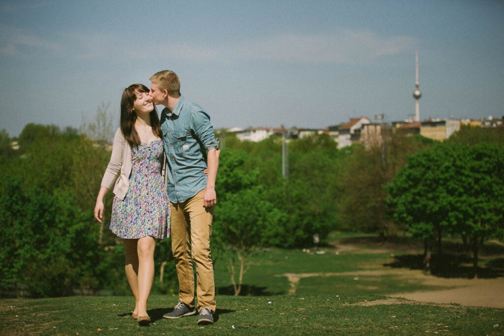
[[385,132],[381,146],[364,149],[355,144],[344,149],[340,161],[338,202],[342,229],[379,233],[382,239],[395,233],[387,217],[384,186],[413,154],[432,144],[423,137],[410,137],[399,132]]

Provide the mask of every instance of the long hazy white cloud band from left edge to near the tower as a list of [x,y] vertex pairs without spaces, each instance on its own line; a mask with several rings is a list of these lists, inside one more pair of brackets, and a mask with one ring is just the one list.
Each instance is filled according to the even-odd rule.
[[[11,26],[0,25],[0,54],[14,55],[27,47],[52,51],[54,56],[78,60],[147,60],[156,57],[190,61],[271,59],[283,62],[365,63],[412,49],[418,42],[403,35],[382,36],[370,31],[341,30],[323,34],[279,34],[235,44],[140,43],[123,35],[59,33],[52,40]],[[158,40],[158,39],[157,39]],[[30,54],[33,54],[30,52]]]

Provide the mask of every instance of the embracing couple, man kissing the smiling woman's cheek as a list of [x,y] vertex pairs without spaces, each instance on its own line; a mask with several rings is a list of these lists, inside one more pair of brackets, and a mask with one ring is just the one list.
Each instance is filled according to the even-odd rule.
[[[210,235],[219,141],[209,115],[180,95],[180,81],[174,72],[158,72],[150,81],[150,90],[133,84],[122,94],[120,127],[96,199],[95,218],[102,222],[103,198],[118,176],[110,230],[124,246],[126,277],[135,297],[132,317],[139,324],[151,321],[147,300],[154,279],[154,248],[170,231],[179,300],[163,317],[199,312],[198,324],[213,323]],[[154,105],[165,106],[161,119]]]

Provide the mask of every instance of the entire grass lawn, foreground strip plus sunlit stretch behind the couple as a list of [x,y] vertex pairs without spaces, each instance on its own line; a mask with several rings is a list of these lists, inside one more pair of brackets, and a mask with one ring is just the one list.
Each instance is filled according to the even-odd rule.
[[[398,257],[408,260],[408,256],[420,253],[421,245],[373,245],[365,237],[357,237],[357,246],[352,237],[343,238],[350,243],[323,247],[320,250],[324,253],[281,249],[257,253],[250,258],[243,296],[238,297],[225,295],[229,293],[229,275],[223,260],[217,260],[213,325],[198,326],[197,316],[163,319],[177,303],[172,294],[151,295],[149,327],[139,327],[131,318],[132,296],[2,299],[0,334],[504,333],[504,309],[419,304],[386,297],[446,288],[409,278],[408,268],[402,265],[394,269],[387,266]],[[485,257],[498,273],[503,253],[501,247],[494,249],[497,254]],[[295,293],[288,294],[292,287]]]

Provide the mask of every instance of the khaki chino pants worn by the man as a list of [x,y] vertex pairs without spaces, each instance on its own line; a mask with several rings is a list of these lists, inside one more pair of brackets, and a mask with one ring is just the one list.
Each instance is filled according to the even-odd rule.
[[198,311],[209,307],[215,312],[214,268],[210,256],[210,235],[214,208],[203,207],[206,189],[182,203],[171,203],[171,250],[178,277],[178,297],[194,307],[194,271]]

